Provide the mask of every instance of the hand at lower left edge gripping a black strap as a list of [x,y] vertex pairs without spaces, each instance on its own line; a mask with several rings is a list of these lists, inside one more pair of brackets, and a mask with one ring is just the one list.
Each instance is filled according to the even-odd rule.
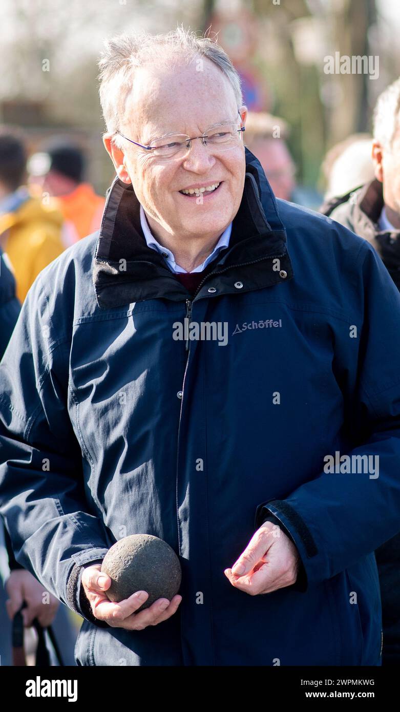
[[[56,617],[60,601],[46,591],[31,572],[25,569],[11,571],[6,581],[6,592],[9,594],[6,611],[11,620],[23,601],[26,602],[26,608],[21,610],[23,625],[26,628],[32,625],[34,618],[38,619],[43,628],[47,628]],[[48,603],[43,602],[43,593],[48,595]]]

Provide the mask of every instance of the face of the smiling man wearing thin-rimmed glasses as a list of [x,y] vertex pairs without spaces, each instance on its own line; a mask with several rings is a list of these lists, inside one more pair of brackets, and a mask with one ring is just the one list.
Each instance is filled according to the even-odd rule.
[[[237,122],[239,128],[231,83],[206,59],[201,71],[196,66],[196,61],[192,61],[189,66],[178,63],[173,71],[151,67],[137,70],[126,103],[122,133],[142,145],[151,145],[154,139],[170,133],[197,137],[226,120]],[[241,115],[246,120],[245,107],[241,108]],[[198,139],[191,142],[186,157],[165,159],[122,141],[126,146],[120,160],[156,235],[186,239],[217,237],[233,220],[243,194],[246,170],[243,142],[214,153]],[[113,159],[117,168],[116,152]],[[119,175],[124,179],[123,174]],[[184,189],[214,184],[219,187],[202,193],[200,199],[195,194],[181,193]]]

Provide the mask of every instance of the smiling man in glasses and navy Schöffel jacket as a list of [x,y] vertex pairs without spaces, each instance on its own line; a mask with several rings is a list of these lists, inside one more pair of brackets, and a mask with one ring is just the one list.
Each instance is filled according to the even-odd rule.
[[[365,241],[275,201],[216,43],[117,37],[100,67],[100,232],[41,273],[0,365],[16,559],[85,618],[79,665],[379,665],[400,295]],[[337,452],[379,478],[327,473]],[[182,567],[140,612],[147,592],[111,602],[100,574],[135,533]]]

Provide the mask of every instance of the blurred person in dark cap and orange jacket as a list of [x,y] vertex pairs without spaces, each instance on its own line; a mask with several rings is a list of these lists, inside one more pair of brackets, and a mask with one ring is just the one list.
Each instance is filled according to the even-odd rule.
[[65,246],[100,228],[105,199],[84,181],[86,157],[80,146],[55,138],[31,157],[28,167],[32,182],[56,199],[65,219]]

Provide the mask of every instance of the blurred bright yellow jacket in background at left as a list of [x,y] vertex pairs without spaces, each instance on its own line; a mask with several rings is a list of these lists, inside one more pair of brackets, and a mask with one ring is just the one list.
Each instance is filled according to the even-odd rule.
[[38,273],[63,252],[62,226],[60,211],[36,197],[0,215],[0,246],[10,258],[21,302]]

